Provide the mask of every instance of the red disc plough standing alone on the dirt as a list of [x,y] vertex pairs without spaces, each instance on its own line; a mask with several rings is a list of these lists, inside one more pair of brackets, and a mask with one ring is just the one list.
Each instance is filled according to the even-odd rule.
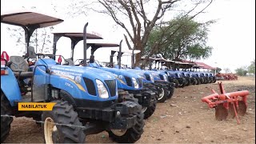
[[213,94],[210,94],[202,98],[202,102],[206,102],[210,108],[215,108],[215,118],[217,120],[225,120],[230,114],[231,118],[236,117],[237,122],[240,123],[238,115],[245,115],[247,109],[247,95],[248,90],[236,91],[226,93],[222,82],[218,82],[219,90],[221,94],[212,90]]

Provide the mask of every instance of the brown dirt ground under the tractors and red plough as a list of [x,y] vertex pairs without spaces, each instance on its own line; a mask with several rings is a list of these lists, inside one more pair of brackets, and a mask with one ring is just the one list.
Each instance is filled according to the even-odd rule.
[[[223,83],[226,92],[250,91],[241,124],[235,118],[215,120],[214,109],[201,102],[212,88],[218,92],[217,83],[186,86],[176,89],[167,102],[158,103],[157,110],[146,119],[138,143],[255,143],[255,78],[239,77],[238,81]],[[42,143],[42,128],[30,118],[14,118],[6,142]],[[112,143],[106,132],[89,135],[86,142]]]

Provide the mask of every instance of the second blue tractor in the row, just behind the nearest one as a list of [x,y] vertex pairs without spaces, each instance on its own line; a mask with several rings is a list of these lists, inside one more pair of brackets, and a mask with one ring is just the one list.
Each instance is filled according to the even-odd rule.
[[[68,33],[65,31],[69,31]],[[71,40],[71,58],[70,64],[74,65],[72,60],[74,59],[74,47],[82,40],[82,33],[71,33],[70,30],[62,30],[54,32],[54,54],[56,52],[56,44],[58,39],[62,36],[70,38]],[[134,98],[138,99],[138,103],[142,106],[142,112],[144,118],[149,118],[154,114],[156,108],[156,96],[152,90],[146,90],[143,88],[142,78],[138,74],[127,72],[126,70],[119,70],[115,68],[102,67],[99,63],[94,60],[94,52],[101,47],[113,47],[119,46],[118,44],[111,43],[86,43],[86,48],[91,47],[90,59],[86,59],[86,65],[88,68],[94,68],[95,70],[100,69],[111,73],[117,79],[118,94],[126,93],[133,94]],[[84,65],[84,59],[78,59],[80,65]]]

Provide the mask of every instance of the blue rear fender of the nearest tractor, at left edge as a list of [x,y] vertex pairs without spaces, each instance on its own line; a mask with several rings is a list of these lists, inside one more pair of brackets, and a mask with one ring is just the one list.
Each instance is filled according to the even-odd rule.
[[14,101],[21,101],[22,94],[18,86],[17,79],[14,76],[12,70],[8,67],[8,74],[1,75],[1,91],[6,95],[6,98],[10,102],[10,106],[14,106]]

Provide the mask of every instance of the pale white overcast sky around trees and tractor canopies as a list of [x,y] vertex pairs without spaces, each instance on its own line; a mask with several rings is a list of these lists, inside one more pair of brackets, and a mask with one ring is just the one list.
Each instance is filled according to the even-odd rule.
[[[68,9],[68,0],[3,0],[1,1],[1,10],[16,9],[21,6],[36,6],[38,10],[44,10],[50,14],[63,17],[63,13]],[[54,12],[54,3],[61,7],[58,13]],[[165,15],[168,18],[169,15]],[[254,0],[214,0],[206,9],[206,13],[198,15],[196,20],[206,21],[216,19],[217,22],[210,26],[208,35],[208,46],[214,50],[210,58],[199,60],[210,66],[230,68],[232,72],[240,66],[249,66],[255,59],[255,1]],[[119,43],[123,39],[124,30],[116,26],[114,21],[103,14],[90,13],[87,16],[80,15],[72,19],[65,18],[66,25],[72,28],[78,28],[84,23],[89,22],[88,30],[96,31],[102,35],[102,42]],[[58,26],[56,26],[58,27]],[[1,24],[1,53],[3,50],[9,55],[17,54],[18,50],[11,49],[15,46],[15,39],[10,38],[6,30],[6,25]],[[126,42],[123,39],[122,48],[127,49]],[[58,42],[58,54],[64,57],[70,57],[70,40],[61,38]],[[87,57],[90,50],[87,50]],[[82,42],[79,42],[74,50],[74,59],[82,58]],[[95,59],[98,61],[109,62],[110,50],[100,49],[95,53]],[[130,57],[122,58],[122,63],[130,64]]]

